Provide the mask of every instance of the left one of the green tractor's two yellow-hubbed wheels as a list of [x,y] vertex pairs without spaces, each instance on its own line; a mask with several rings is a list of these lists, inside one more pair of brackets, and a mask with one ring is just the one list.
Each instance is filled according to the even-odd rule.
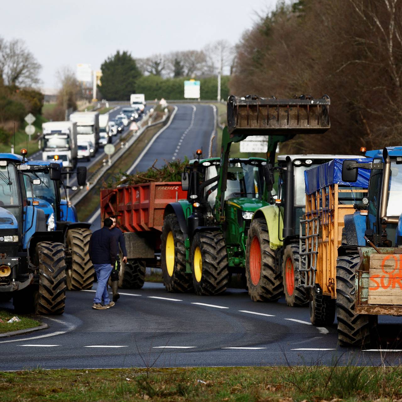
[[160,262],[166,290],[178,293],[192,291],[191,274],[186,273],[184,236],[176,215],[165,216],[161,240]]

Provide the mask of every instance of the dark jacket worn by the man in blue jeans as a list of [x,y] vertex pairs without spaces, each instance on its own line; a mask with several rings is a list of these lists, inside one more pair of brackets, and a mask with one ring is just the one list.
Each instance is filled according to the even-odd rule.
[[92,264],[110,264],[114,267],[117,258],[117,245],[111,230],[103,227],[93,232],[88,251]]

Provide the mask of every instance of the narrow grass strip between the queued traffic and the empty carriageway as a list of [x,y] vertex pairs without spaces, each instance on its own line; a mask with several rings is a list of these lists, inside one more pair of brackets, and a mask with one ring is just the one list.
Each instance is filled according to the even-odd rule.
[[[78,220],[80,222],[85,222],[88,217],[98,208],[99,206],[99,194],[100,189],[104,187],[104,183],[107,183],[114,174],[119,173],[119,171],[127,171],[127,169],[133,164],[134,160],[141,154],[142,150],[146,147],[148,142],[154,137],[154,135],[166,124],[169,119],[166,119],[164,123],[154,125],[144,131],[142,135],[139,136],[137,141],[127,150],[123,156],[105,173],[103,178],[99,180],[98,184],[94,186],[91,191],[76,205]],[[96,166],[91,166],[88,170],[88,176],[90,173],[102,166],[102,160],[100,160]]]

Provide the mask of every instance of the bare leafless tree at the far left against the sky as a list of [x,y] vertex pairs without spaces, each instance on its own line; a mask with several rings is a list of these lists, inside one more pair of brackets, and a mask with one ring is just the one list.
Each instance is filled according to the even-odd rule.
[[0,73],[4,84],[34,86],[39,84],[41,65],[21,39],[0,38]]

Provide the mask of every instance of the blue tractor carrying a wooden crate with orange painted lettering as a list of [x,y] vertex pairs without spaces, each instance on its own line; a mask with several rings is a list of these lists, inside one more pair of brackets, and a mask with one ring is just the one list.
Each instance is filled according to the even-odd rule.
[[367,197],[344,218],[336,261],[338,340],[343,345],[371,343],[378,315],[402,316],[402,147],[366,156],[373,162],[365,166],[343,162],[345,181],[357,180],[358,167],[371,170]]

